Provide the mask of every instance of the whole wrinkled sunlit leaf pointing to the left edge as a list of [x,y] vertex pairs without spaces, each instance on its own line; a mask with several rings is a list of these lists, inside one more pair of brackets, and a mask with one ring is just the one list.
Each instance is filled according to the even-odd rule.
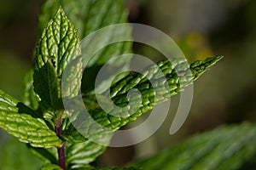
[[32,112],[26,105],[0,90],[0,127],[3,130],[21,142],[35,147],[61,146],[61,139],[49,129],[43,119],[34,118],[20,111]]

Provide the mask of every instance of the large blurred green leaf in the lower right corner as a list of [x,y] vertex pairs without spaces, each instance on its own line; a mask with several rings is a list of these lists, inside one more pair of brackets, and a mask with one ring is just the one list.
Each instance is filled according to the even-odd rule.
[[133,165],[147,170],[241,169],[255,159],[256,125],[218,127]]

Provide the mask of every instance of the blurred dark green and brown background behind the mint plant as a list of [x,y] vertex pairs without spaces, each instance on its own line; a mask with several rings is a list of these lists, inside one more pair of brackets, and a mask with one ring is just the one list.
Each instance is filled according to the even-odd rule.
[[[0,88],[22,99],[23,77],[32,65],[37,17],[43,0],[0,2]],[[98,159],[101,165],[122,165],[137,157],[152,155],[191,134],[224,123],[256,121],[256,1],[126,0],[125,4],[130,10],[131,22],[166,32],[189,61],[219,54],[224,55],[224,59],[194,83],[189,117],[176,134],[169,135],[169,128],[178,96],[172,99],[170,116],[157,133],[132,147],[108,149]],[[140,46],[136,52],[154,55]],[[24,158],[31,159],[32,166],[40,167],[42,162],[23,152],[25,145],[17,144],[3,131],[0,131],[0,144],[0,170],[3,164],[20,166]],[[10,154],[7,150],[14,151]]]

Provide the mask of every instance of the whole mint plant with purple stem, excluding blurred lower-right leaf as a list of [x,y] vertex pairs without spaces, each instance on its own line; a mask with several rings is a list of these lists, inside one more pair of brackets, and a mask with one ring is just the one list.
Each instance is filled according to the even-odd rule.
[[[62,0],[59,3],[52,0],[45,1],[42,14],[39,16],[40,35],[34,53],[34,65],[25,77],[24,101],[18,101],[0,90],[0,127],[20,142],[26,143],[34,155],[44,160],[46,165],[42,167],[43,170],[144,167],[143,162],[146,161],[132,164],[138,168],[91,167],[90,162],[95,161],[106,146],[96,144],[90,139],[105,139],[108,144],[109,136],[120,127],[135,121],[137,117],[152,110],[155,105],[181,92],[210,66],[222,59],[222,56],[217,56],[197,60],[190,64],[189,68],[186,67],[186,61],[183,59],[177,58],[172,61],[166,59],[145,68],[143,74],[130,72],[111,85],[110,97],[115,105],[122,107],[129,103],[126,99],[128,92],[132,88],[137,88],[142,94],[142,103],[133,114],[117,112],[115,116],[110,115],[97,104],[94,84],[86,82],[88,79],[82,75],[80,39],[104,26],[125,22],[126,14],[121,0]],[[123,36],[131,36],[130,34],[131,32],[127,32]],[[111,38],[111,34],[104,38]],[[131,52],[131,42],[115,43],[97,53],[90,62],[90,68],[100,67],[112,56],[129,52]],[[63,94],[62,75],[70,62],[74,62],[75,66],[69,68],[72,70],[72,74],[68,77],[70,81],[67,82],[69,88],[64,90],[65,94]],[[120,67],[127,65],[129,65],[128,59],[118,63]],[[158,69],[164,73],[163,76],[157,73]],[[187,74],[188,69],[192,75]],[[93,71],[88,69],[84,72],[90,75]],[[182,78],[178,76],[179,74],[183,75]],[[162,89],[161,97],[154,98],[154,88],[145,78],[146,76],[154,79],[154,82],[161,81],[165,77],[169,89]],[[81,91],[84,104],[90,111],[90,117],[85,117],[80,127],[90,139],[81,135],[73,126],[73,120],[68,117],[70,113],[65,110],[62,101],[63,97],[75,98],[79,94],[78,87],[81,85],[82,77]],[[104,98],[104,93],[101,95]],[[131,108],[136,104],[136,100],[129,103]],[[79,115],[72,118],[79,119]],[[94,126],[95,123],[101,124],[102,127]]]

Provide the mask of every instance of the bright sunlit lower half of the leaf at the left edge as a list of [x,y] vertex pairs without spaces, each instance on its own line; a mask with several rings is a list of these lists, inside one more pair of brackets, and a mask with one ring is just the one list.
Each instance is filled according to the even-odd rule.
[[51,131],[44,120],[26,114],[0,111],[0,127],[21,142],[35,147],[61,146],[62,141]]

